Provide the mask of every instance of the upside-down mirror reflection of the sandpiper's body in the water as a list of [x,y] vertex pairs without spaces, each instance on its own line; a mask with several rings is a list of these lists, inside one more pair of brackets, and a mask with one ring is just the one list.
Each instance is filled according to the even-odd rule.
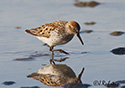
[[[54,61],[53,61],[54,62]],[[40,68],[38,72],[32,73],[27,77],[36,79],[48,86],[65,87],[67,84],[80,83],[84,68],[78,76],[66,64],[49,64]]]

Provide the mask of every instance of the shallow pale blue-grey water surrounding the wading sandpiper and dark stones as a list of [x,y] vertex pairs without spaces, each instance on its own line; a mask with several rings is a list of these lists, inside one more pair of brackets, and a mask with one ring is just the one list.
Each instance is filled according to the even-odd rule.
[[[24,30],[56,20],[76,20],[80,23],[81,30],[93,30],[89,34],[81,33],[84,46],[74,37],[68,44],[55,47],[70,53],[60,55],[57,52],[57,59],[69,57],[58,64],[67,64],[76,75],[85,67],[82,82],[91,85],[95,80],[125,80],[125,55],[114,55],[110,52],[114,48],[125,47],[125,34],[110,35],[113,31],[125,32],[125,1],[96,1],[102,4],[94,8],[80,8],[73,5],[73,0],[0,0],[0,87],[6,87],[2,84],[4,81],[14,81],[16,83],[8,88],[50,88],[26,77],[37,72],[43,67],[42,64],[49,64],[51,53],[41,41],[26,34]],[[87,26],[84,23],[88,21],[96,24]],[[32,55],[36,55],[32,60],[15,61],[17,58],[28,58]],[[105,88],[94,85],[91,88],[97,87]]]

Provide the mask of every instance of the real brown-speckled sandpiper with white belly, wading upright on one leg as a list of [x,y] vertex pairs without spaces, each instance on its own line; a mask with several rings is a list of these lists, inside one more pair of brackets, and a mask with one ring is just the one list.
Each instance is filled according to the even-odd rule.
[[62,53],[68,54],[62,49],[53,49],[56,45],[63,45],[68,43],[74,35],[76,35],[84,45],[80,35],[80,26],[76,21],[55,21],[37,28],[25,30],[27,33],[36,36],[39,40],[43,41],[50,47],[52,51],[52,57],[54,51],[60,51]]

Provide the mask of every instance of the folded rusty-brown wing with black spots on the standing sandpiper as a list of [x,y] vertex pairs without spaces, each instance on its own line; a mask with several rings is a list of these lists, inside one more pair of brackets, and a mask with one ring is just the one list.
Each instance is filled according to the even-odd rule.
[[37,28],[33,28],[30,30],[25,30],[27,33],[30,33],[32,35],[35,36],[39,36],[39,37],[50,37],[50,32],[55,30],[55,29],[61,29],[62,27],[64,27],[64,25],[66,24],[66,21],[55,21],[52,23],[48,23],[45,25],[42,25],[40,27]]

